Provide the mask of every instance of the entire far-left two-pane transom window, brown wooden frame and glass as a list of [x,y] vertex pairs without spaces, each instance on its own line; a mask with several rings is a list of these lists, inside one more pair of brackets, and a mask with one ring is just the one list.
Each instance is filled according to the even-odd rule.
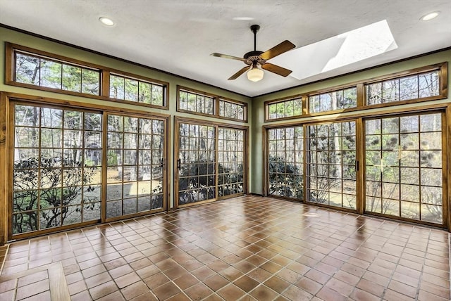
[[6,43],[5,83],[168,110],[167,82]]

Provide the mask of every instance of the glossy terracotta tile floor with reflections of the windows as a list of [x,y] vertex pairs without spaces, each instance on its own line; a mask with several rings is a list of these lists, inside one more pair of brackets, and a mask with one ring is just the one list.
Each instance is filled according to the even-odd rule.
[[[83,301],[450,300],[448,240],[244,196],[11,243],[1,277],[61,262],[70,299]],[[0,283],[0,300],[49,296],[45,271]]]

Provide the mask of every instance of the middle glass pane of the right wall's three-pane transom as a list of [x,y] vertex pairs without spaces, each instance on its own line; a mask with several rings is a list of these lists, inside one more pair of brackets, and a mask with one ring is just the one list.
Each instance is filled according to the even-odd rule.
[[309,113],[354,108],[357,106],[357,88],[342,89],[309,96]]

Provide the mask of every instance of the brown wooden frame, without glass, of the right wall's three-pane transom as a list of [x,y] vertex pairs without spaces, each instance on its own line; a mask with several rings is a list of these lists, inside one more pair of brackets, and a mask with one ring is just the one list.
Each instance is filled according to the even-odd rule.
[[[389,103],[376,103],[373,105],[366,105],[366,93],[365,93],[365,87],[367,84],[373,84],[376,82],[383,82],[385,80],[390,79],[397,79],[401,77],[408,77],[411,75],[419,75],[421,73],[426,72],[433,72],[438,71],[438,79],[439,79],[439,94],[436,96],[430,96],[425,98],[414,98],[409,99],[405,101],[393,101]],[[339,110],[330,110],[325,112],[319,112],[319,113],[310,113],[309,112],[309,97],[315,96],[318,94],[325,94],[333,91],[338,90],[344,90],[349,89],[352,87],[357,87],[357,106],[354,108],[345,108],[345,109],[339,109]],[[447,62],[444,63],[437,63],[433,65],[427,65],[421,68],[414,68],[410,70],[404,70],[401,72],[395,72],[388,75],[382,75],[378,77],[373,77],[370,79],[363,79],[357,82],[350,82],[347,84],[338,85],[335,87],[329,87],[326,89],[320,89],[317,91],[309,91],[304,94],[297,94],[294,96],[288,96],[285,98],[278,98],[271,101],[265,101],[264,108],[265,108],[265,120],[264,122],[275,122],[280,120],[290,120],[290,119],[302,119],[307,117],[316,117],[316,116],[325,116],[325,115],[333,115],[337,113],[352,113],[356,111],[366,110],[366,109],[375,109],[375,108],[386,108],[386,107],[393,107],[396,105],[406,105],[410,103],[427,103],[428,101],[437,101],[441,99],[445,99],[448,96],[448,71],[447,71]],[[268,119],[268,105],[271,103],[277,103],[280,101],[288,101],[292,98],[296,97],[302,97],[302,115],[298,115],[295,117],[283,117],[283,118],[274,118],[274,119]]]

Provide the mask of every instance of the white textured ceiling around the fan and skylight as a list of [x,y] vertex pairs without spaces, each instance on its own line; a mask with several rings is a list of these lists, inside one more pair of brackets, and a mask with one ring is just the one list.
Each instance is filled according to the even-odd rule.
[[[440,15],[419,20],[432,11]],[[101,16],[116,25],[102,25]],[[234,20],[242,17],[252,20]],[[265,71],[260,82],[246,75],[228,81],[245,65],[209,56],[252,51],[252,24],[261,26],[257,50],[265,51],[285,39],[299,48],[381,20],[387,20],[397,49],[300,80]],[[0,0],[0,23],[247,96],[451,46],[450,0]],[[313,58],[300,60],[302,65],[289,55],[274,62],[295,71],[315,69],[307,66]]]

